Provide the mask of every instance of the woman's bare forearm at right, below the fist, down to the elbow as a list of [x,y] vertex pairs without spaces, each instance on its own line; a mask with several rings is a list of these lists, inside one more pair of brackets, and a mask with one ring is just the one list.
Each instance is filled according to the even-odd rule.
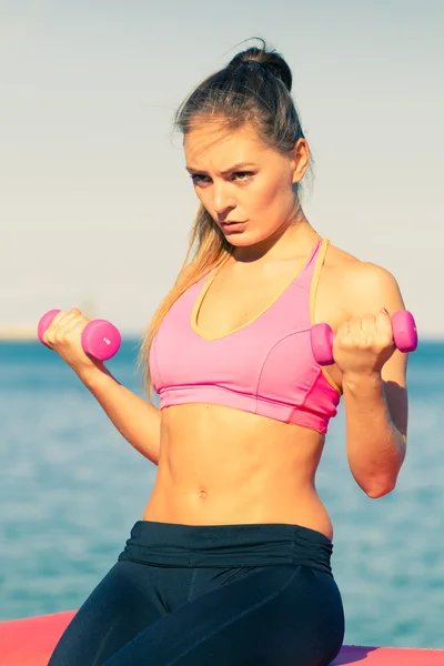
[[343,379],[346,451],[356,483],[370,497],[390,493],[405,457],[405,438],[394,425],[380,375]]

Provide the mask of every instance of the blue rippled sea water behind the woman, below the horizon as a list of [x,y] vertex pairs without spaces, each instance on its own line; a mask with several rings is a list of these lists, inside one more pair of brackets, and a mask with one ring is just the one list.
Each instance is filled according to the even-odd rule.
[[[109,362],[135,393],[137,341]],[[370,500],[332,422],[317,490],[333,519],[345,642],[444,648],[444,342],[408,362],[408,453],[396,490]],[[155,466],[38,343],[0,343],[0,620],[78,608],[114,564]]]

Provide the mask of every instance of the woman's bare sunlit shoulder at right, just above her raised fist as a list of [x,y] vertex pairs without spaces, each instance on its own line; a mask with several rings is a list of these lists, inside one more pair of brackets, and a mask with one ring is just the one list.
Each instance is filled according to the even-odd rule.
[[350,316],[363,316],[382,307],[393,313],[403,307],[397,281],[384,266],[329,244],[324,269],[325,280],[332,291],[341,294]]

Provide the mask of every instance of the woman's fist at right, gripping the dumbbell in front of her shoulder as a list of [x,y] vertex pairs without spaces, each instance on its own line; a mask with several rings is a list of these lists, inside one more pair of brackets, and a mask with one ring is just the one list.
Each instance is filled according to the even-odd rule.
[[376,315],[354,316],[340,324],[333,359],[343,375],[380,375],[395,349],[392,320],[384,309]]

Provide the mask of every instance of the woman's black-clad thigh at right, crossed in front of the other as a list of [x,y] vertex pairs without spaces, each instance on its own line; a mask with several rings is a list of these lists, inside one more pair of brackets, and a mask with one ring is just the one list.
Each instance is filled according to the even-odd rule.
[[303,566],[265,567],[176,608],[105,666],[325,666],[343,633],[332,576]]

